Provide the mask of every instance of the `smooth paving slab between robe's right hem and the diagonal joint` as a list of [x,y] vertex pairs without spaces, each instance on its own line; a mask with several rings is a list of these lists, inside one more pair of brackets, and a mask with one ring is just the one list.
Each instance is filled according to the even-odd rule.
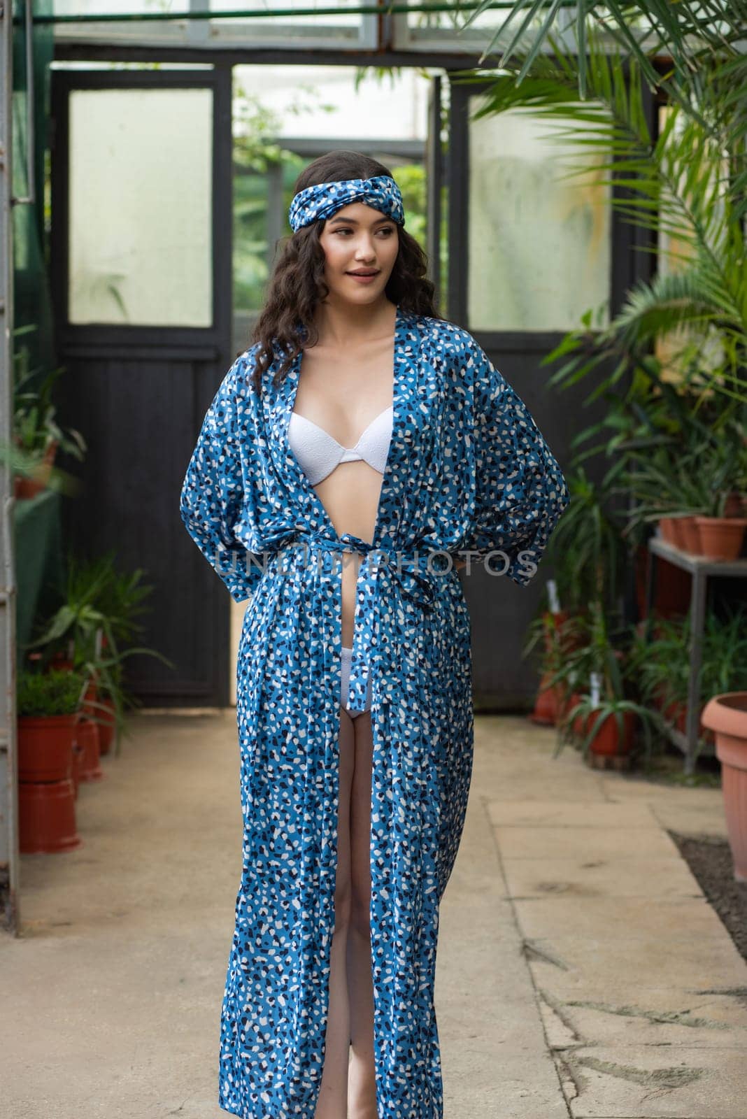
[[435,1003],[448,1119],[568,1119],[480,796],[441,904]]

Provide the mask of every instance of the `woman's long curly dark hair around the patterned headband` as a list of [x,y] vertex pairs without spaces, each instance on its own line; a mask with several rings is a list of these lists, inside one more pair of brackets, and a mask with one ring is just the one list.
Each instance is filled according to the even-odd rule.
[[[294,194],[318,182],[368,179],[377,175],[393,178],[391,171],[368,156],[357,151],[330,151],[301,172]],[[314,311],[329,294],[324,282],[324,250],[319,243],[323,228],[324,219],[320,218],[297,229],[285,239],[275,262],[265,305],[252,332],[252,342],[259,344],[252,374],[257,392],[261,392],[265,370],[276,358],[283,358],[274,378],[275,384],[280,384],[300,350],[319,339]],[[426,278],[426,254],[400,225],[397,234],[399,251],[385,289],[386,297],[404,311],[439,319],[434,304],[435,286]]]

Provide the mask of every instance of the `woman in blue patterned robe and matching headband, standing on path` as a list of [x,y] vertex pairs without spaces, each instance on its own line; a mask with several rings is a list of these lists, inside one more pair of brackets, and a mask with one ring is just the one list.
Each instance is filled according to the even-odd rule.
[[521,399],[437,316],[387,168],[335,151],[295,189],[181,495],[250,599],[219,1101],[245,1119],[441,1119],[438,905],[473,749],[453,561],[528,583],[568,495]]

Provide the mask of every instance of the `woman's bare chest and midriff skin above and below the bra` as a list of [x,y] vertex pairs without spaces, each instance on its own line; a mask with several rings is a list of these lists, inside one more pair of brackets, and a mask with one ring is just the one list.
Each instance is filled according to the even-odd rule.
[[[319,424],[347,448],[356,445],[370,422],[393,404],[393,340],[367,342],[363,351],[341,354],[329,346],[304,350],[294,412]],[[362,459],[340,462],[314,486],[338,534],[352,533],[369,544],[381,495],[382,476]],[[356,583],[362,556],[341,558],[342,643],[352,647]]]

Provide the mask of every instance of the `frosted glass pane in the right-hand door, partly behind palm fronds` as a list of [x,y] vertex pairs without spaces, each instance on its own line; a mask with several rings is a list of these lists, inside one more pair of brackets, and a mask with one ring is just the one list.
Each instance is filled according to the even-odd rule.
[[[609,188],[593,173],[601,157],[549,131],[518,110],[470,123],[471,329],[568,330],[601,303],[595,325],[608,321]],[[559,181],[581,158],[589,173]]]

